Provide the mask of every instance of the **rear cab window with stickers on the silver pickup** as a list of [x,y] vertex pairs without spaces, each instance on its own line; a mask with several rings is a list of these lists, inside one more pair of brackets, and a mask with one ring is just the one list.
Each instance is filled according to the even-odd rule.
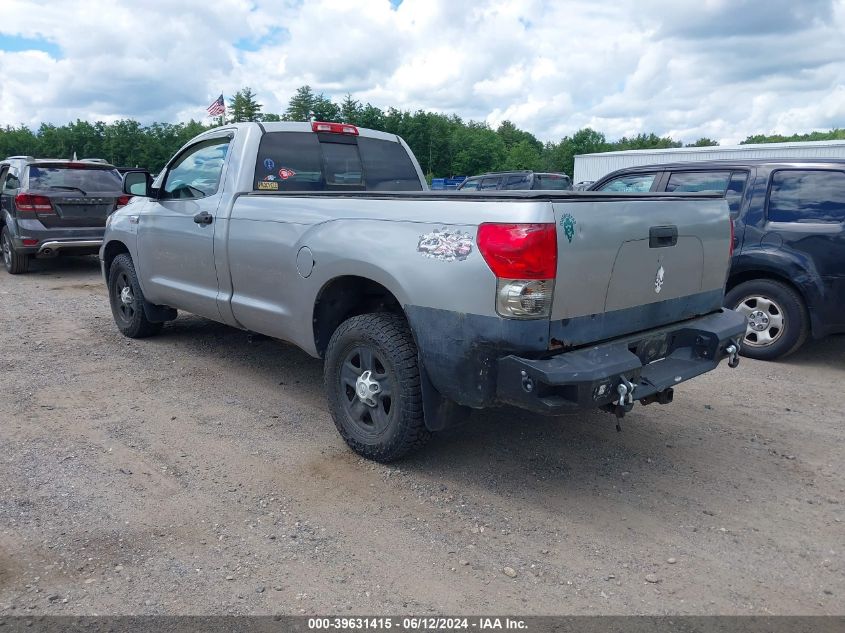
[[261,137],[257,191],[421,191],[414,164],[396,141],[363,136],[267,132]]

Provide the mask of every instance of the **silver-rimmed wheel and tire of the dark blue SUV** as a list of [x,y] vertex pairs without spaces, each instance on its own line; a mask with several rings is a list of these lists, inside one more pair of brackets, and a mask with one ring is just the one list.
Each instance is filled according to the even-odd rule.
[[758,360],[782,358],[797,350],[810,331],[804,300],[772,279],[745,281],[725,295],[725,305],[747,319],[740,351]]

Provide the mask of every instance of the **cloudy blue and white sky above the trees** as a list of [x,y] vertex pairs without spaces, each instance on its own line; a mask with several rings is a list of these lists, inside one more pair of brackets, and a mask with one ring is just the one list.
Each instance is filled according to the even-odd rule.
[[722,143],[845,127],[845,0],[0,0],[0,125],[201,118],[243,86]]

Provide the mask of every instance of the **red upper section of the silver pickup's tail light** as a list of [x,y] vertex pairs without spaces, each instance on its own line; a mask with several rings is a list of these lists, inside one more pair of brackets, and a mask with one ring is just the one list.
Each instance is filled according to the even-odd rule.
[[484,261],[499,279],[554,279],[554,224],[482,224],[476,238]]

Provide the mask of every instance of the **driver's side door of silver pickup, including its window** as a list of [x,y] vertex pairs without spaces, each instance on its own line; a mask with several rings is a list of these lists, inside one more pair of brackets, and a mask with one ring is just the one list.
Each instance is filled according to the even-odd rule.
[[220,320],[214,232],[230,141],[206,138],[183,150],[167,167],[158,197],[140,210],[138,264],[152,303]]

